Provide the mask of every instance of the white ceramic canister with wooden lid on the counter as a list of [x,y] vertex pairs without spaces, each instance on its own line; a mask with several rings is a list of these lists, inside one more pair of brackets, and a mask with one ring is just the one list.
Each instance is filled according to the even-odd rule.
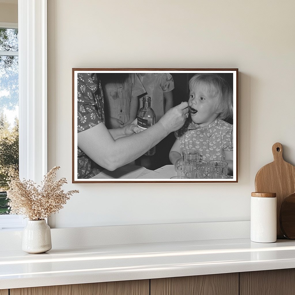
[[251,193],[251,241],[273,243],[277,237],[276,193]]

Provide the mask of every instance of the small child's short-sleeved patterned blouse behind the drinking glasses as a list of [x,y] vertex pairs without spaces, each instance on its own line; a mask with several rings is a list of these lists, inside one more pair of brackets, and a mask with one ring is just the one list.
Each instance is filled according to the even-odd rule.
[[175,132],[183,150],[198,150],[202,160],[224,160],[223,151],[233,150],[232,124],[216,119],[206,127],[188,119],[181,129]]

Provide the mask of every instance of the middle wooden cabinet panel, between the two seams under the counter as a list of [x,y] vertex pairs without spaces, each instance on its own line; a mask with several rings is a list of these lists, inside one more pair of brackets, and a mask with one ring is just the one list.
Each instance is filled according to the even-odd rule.
[[205,276],[153,279],[151,295],[238,295],[239,274],[221,273]]

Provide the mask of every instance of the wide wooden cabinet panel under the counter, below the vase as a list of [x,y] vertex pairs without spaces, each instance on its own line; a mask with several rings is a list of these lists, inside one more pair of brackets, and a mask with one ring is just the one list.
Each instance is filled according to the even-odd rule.
[[10,295],[149,295],[149,280],[10,289]]

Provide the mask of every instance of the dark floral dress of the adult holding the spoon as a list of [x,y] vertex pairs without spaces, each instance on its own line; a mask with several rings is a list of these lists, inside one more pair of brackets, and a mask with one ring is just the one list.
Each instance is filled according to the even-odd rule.
[[[78,73],[78,133],[105,123],[104,96],[96,73]],[[78,178],[91,178],[104,168],[78,147]]]

